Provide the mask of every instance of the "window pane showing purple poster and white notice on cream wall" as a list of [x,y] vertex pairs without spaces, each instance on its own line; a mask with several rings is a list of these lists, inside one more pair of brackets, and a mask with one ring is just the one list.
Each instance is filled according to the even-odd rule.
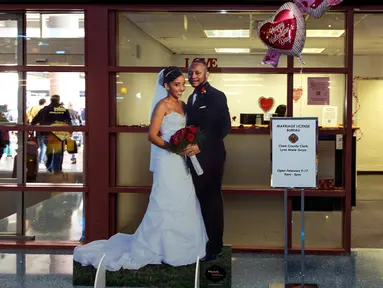
[[324,127],[343,125],[345,85],[344,74],[295,74],[293,115],[318,117]]

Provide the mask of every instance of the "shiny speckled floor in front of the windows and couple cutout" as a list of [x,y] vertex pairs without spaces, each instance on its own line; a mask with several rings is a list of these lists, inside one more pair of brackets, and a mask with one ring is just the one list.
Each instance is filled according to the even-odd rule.
[[[1,288],[73,287],[72,255],[49,254],[49,251],[30,253],[0,254]],[[301,283],[300,256],[288,259],[288,282]],[[351,256],[310,255],[305,256],[304,280],[321,288],[381,288],[381,267],[383,250],[358,250]],[[268,288],[270,284],[285,281],[284,271],[283,256],[234,254],[232,287]]]

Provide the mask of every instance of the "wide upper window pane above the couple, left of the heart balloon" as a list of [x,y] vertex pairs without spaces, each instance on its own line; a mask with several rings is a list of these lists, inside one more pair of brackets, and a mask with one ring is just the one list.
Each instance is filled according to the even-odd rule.
[[[211,67],[271,67],[257,24],[273,12],[118,13],[119,66],[187,67],[204,58]],[[282,55],[278,67],[287,66]]]

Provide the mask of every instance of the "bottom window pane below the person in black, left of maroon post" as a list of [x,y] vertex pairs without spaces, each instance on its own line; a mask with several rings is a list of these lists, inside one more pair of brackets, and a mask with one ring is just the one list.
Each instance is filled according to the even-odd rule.
[[26,235],[38,240],[78,241],[83,236],[83,194],[27,192]]

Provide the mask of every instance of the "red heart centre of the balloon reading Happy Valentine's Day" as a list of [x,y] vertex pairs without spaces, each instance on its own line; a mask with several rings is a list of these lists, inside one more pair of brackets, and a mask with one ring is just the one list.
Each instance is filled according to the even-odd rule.
[[297,34],[297,19],[291,10],[282,10],[273,22],[260,28],[260,37],[266,45],[280,50],[291,50]]

